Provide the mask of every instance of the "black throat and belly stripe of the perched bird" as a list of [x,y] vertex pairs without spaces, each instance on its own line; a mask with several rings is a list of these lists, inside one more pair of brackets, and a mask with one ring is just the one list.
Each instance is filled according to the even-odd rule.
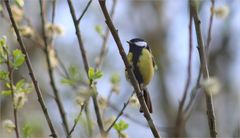
[[129,52],[133,53],[133,57],[132,57],[133,72],[139,84],[143,83],[143,77],[137,66],[142,50],[143,48],[141,47],[130,47],[130,50],[129,50]]

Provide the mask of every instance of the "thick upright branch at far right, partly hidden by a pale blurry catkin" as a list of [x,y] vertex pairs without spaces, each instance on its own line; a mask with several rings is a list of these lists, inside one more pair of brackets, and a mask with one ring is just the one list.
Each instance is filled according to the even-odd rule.
[[[198,50],[199,50],[199,56],[200,56],[200,62],[201,62],[201,69],[203,72],[203,78],[208,79],[209,72],[208,72],[208,66],[207,66],[207,60],[206,60],[206,52],[205,52],[202,33],[201,33],[201,26],[200,26],[201,21],[198,17],[197,8],[194,1],[191,1],[190,9],[193,14],[193,19],[194,19],[194,24],[196,29]],[[212,100],[211,93],[210,94],[206,93],[206,105],[207,105],[207,116],[208,116],[208,125],[209,125],[210,135],[211,137],[216,137],[217,136],[216,121],[215,121],[215,113],[214,113],[213,100]]]

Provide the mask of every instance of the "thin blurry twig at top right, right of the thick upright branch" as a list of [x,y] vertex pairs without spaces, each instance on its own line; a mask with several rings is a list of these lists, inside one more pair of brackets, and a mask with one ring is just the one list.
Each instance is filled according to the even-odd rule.
[[208,52],[209,47],[210,47],[210,42],[212,40],[211,36],[211,31],[212,31],[212,24],[213,24],[213,15],[214,15],[214,5],[215,5],[215,0],[211,0],[211,8],[210,8],[210,19],[209,19],[209,27],[208,27],[208,36],[207,36],[207,45],[206,45],[206,51]]

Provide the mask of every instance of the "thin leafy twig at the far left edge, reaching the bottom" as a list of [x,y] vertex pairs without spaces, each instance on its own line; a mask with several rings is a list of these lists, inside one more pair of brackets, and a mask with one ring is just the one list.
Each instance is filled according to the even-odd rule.
[[8,68],[8,78],[9,78],[9,85],[10,85],[10,90],[11,90],[11,96],[12,96],[12,105],[13,105],[13,116],[14,116],[14,124],[15,124],[15,133],[16,133],[16,137],[19,138],[19,129],[18,129],[18,116],[17,116],[17,108],[15,107],[14,104],[14,89],[13,89],[13,68],[11,67],[11,63],[10,63],[10,58],[9,58],[9,53],[8,50],[3,47],[3,49],[5,50],[5,53],[7,54],[7,68]]

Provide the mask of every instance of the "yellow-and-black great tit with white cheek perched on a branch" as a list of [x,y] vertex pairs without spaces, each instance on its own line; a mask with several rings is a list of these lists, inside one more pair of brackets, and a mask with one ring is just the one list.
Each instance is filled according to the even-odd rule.
[[[143,97],[150,113],[152,113],[152,103],[146,86],[153,78],[154,74],[154,60],[151,50],[143,39],[134,38],[127,41],[129,44],[129,53],[127,55],[128,61],[132,66],[135,77],[143,91]],[[126,78],[128,75],[126,72]],[[140,108],[140,112],[142,108]]]

